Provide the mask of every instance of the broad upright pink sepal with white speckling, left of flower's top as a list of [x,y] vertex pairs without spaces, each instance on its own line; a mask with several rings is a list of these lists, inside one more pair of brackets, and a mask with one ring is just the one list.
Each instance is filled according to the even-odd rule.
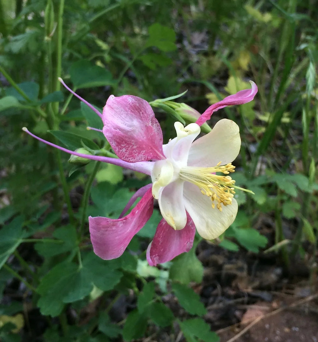
[[110,95],[103,109],[103,123],[103,133],[120,159],[164,159],[160,124],[142,98]]

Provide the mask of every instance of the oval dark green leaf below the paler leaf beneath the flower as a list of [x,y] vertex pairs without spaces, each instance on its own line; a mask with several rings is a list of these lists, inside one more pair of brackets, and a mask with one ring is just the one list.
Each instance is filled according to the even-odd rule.
[[191,315],[202,316],[207,313],[206,308],[200,301],[199,295],[188,286],[183,284],[172,284],[180,305]]

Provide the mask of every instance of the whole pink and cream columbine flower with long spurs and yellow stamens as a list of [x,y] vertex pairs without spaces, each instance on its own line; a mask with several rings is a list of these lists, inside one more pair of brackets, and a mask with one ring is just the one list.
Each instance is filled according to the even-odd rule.
[[[234,198],[237,187],[229,174],[234,172],[232,161],[240,150],[239,128],[235,122],[222,119],[210,133],[195,139],[200,126],[214,111],[253,100],[257,87],[254,82],[251,85],[251,90],[239,91],[210,106],[196,123],[184,127],[175,122],[177,136],[163,145],[160,125],[149,103],[142,98],[111,95],[100,114],[64,84],[102,118],[103,133],[120,159],[73,152],[44,141],[26,128],[23,130],[72,155],[105,161],[151,176],[152,184],[132,196],[119,219],[90,216],[89,229],[94,252],[102,259],[118,258],[149,220],[153,200],[157,199],[163,219],[147,250],[149,264],[156,265],[188,252],[195,228],[204,239],[210,240],[220,236],[233,223],[237,213]],[[136,207],[124,216],[138,197],[141,199]]]

